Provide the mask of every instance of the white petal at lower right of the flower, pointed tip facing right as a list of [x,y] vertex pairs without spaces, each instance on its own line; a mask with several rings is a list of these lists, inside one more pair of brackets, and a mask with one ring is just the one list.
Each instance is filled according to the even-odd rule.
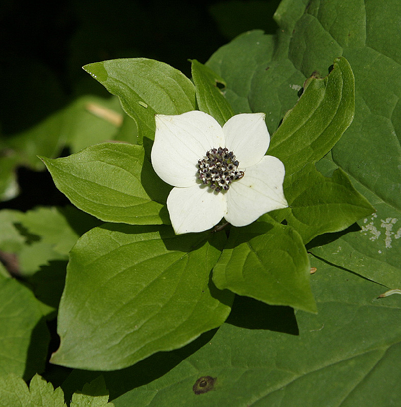
[[286,208],[284,174],[284,164],[272,156],[264,156],[247,168],[244,177],[234,181],[227,191],[227,222],[245,226],[266,212]]

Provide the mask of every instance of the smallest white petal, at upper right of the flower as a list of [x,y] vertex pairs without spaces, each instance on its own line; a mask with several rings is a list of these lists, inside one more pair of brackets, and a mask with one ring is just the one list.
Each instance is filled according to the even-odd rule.
[[257,164],[269,148],[270,135],[264,113],[242,113],[223,126],[226,147],[235,154],[239,169]]

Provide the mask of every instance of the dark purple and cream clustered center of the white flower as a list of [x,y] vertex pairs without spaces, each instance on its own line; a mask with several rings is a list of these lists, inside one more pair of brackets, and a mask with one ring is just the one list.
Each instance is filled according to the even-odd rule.
[[232,151],[222,147],[211,149],[198,160],[198,178],[213,191],[228,191],[233,181],[244,177],[244,171],[237,171],[238,165]]

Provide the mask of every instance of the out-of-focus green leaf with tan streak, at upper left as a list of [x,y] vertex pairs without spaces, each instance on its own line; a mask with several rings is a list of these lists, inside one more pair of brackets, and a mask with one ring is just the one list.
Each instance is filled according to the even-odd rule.
[[56,158],[65,146],[76,152],[112,140],[119,132],[123,115],[118,98],[83,96],[32,127],[8,136],[0,146],[4,155],[1,167],[5,169],[0,177],[0,195],[2,190],[3,199],[17,194],[14,172],[18,165],[42,170],[38,155]]

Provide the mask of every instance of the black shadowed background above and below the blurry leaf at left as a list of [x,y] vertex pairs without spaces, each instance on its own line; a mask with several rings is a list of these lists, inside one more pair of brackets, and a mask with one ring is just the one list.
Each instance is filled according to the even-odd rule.
[[[254,28],[274,33],[278,0],[60,2],[3,0],[0,5],[0,154],[7,139],[74,98],[109,93],[83,65],[121,57],[163,61],[191,76],[220,46]],[[68,155],[68,150],[62,155]],[[0,168],[1,170],[1,168]],[[64,205],[46,171],[17,167],[21,193],[0,209]]]

